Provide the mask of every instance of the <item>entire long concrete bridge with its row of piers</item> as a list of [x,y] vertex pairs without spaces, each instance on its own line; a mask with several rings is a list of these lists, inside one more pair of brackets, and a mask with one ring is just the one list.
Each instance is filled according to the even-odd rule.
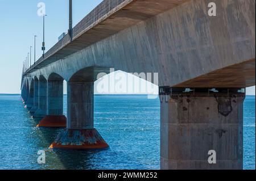
[[[208,15],[210,2],[216,16]],[[42,117],[38,126],[66,127],[51,148],[108,148],[93,127],[93,85],[109,68],[159,73],[161,169],[242,169],[245,87],[255,85],[255,0],[103,1],[72,39],[66,35],[23,73],[22,98]]]

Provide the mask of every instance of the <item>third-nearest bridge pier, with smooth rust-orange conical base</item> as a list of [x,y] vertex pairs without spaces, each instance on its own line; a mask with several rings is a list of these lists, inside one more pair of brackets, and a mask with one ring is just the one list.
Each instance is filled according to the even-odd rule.
[[47,82],[47,116],[37,127],[67,127],[67,118],[63,115],[63,79]]

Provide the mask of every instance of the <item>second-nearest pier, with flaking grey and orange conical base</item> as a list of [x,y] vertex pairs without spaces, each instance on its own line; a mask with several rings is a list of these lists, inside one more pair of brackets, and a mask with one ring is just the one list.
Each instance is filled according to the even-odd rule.
[[105,149],[100,133],[93,127],[93,82],[68,82],[68,123],[50,148]]

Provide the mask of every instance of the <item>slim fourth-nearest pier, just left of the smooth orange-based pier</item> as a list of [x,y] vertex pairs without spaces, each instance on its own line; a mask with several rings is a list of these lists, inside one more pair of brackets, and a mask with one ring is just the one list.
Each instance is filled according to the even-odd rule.
[[43,118],[46,116],[47,108],[47,81],[44,77],[40,76],[38,85],[38,110],[35,111],[34,118]]

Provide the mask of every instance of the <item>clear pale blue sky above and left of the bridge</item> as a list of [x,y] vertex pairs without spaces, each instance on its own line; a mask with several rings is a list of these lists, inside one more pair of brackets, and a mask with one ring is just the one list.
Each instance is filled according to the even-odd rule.
[[[39,2],[46,4],[46,50],[68,30],[68,0],[0,0],[0,93],[20,92],[22,64],[30,46],[34,47],[34,35],[38,36],[36,60],[42,55],[43,19],[37,15]],[[74,0],[73,26],[100,2],[102,0]],[[247,94],[255,95],[255,86],[247,89]]]

